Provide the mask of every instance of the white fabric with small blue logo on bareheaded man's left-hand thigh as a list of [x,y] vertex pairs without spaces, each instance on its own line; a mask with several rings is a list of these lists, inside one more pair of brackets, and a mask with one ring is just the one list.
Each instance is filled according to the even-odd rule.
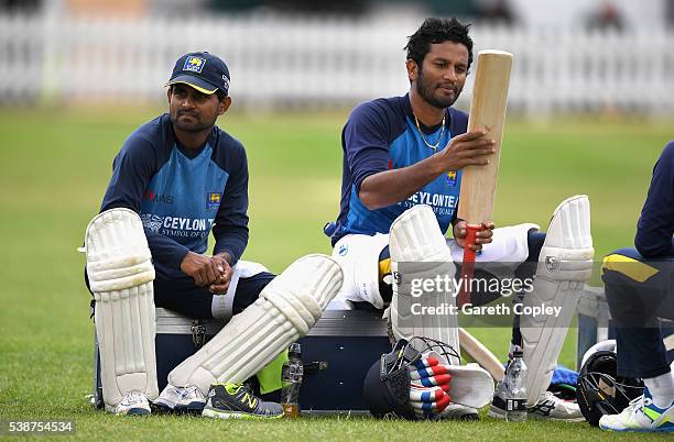
[[389,235],[346,235],[333,248],[333,258],[344,270],[344,284],[336,300],[366,301],[383,309],[379,292],[379,254],[389,244]]

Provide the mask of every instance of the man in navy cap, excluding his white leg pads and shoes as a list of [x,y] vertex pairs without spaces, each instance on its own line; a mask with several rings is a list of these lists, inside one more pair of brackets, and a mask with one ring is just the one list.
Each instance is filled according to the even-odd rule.
[[[191,52],[165,86],[168,112],[127,139],[100,211],[121,207],[140,214],[159,307],[191,318],[231,317],[273,275],[232,280],[231,267],[248,244],[248,162],[243,145],[216,125],[231,104],[229,69],[213,54]],[[208,256],[211,229],[216,244]],[[230,284],[237,296],[225,305],[214,294]]]

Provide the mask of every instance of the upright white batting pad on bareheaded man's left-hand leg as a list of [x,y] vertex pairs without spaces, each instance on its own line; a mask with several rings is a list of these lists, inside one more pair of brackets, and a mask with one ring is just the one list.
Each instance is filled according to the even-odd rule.
[[[393,221],[389,235],[389,251],[393,273],[390,320],[395,340],[410,341],[412,336],[432,338],[452,345],[458,352],[456,314],[414,314],[409,308],[412,303],[428,305],[422,299],[423,295],[413,296],[414,280],[433,278],[433,275],[454,277],[456,274],[445,236],[430,206],[414,206]],[[414,263],[433,263],[433,265],[414,266]],[[425,299],[426,301],[432,299],[433,306],[443,303],[456,306],[456,294],[452,289],[435,291],[432,297]],[[445,363],[459,364],[459,361],[445,361]]]

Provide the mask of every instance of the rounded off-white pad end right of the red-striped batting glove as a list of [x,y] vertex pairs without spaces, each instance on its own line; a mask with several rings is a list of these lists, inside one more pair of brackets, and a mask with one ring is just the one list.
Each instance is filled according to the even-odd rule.
[[481,408],[493,399],[493,379],[478,364],[450,365],[452,375],[449,396],[454,404],[470,408]]

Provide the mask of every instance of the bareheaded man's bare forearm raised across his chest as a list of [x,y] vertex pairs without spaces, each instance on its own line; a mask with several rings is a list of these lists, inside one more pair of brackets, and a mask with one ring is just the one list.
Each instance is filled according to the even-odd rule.
[[412,166],[380,172],[362,180],[358,198],[370,210],[395,205],[410,198],[443,172],[435,156]]

